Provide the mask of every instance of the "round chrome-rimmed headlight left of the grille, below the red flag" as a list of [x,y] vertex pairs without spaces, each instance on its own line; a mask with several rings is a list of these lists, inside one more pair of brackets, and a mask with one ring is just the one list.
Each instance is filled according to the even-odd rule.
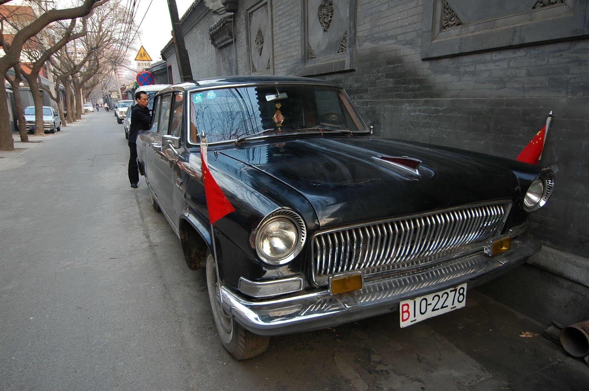
[[262,220],[252,235],[257,255],[269,265],[284,265],[299,255],[306,238],[303,219],[292,210],[279,209]]

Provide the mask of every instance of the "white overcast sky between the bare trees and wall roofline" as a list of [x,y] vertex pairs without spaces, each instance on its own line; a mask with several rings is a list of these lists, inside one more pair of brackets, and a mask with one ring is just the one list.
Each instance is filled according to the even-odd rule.
[[[123,1],[123,4],[133,2],[133,0]],[[151,2],[151,6],[150,6]],[[178,6],[178,17],[181,18],[188,7],[194,0],[176,0]],[[161,59],[160,51],[164,45],[172,38],[172,22],[170,21],[170,12],[168,11],[168,2],[166,0],[137,0],[139,4],[135,12],[135,24],[140,24],[143,15],[143,23],[139,28],[140,39],[137,40],[137,48],[135,50],[129,49],[127,55],[129,61],[133,66],[135,65],[135,56],[137,49],[141,45],[155,62]],[[149,6],[149,9],[147,7]],[[147,14],[145,12],[147,11]],[[132,52],[132,53],[131,53]]]

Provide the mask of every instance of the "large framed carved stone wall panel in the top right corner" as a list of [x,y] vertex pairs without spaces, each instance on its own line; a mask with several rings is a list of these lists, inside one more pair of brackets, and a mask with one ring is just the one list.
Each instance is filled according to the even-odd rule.
[[589,36],[587,0],[424,0],[421,58]]

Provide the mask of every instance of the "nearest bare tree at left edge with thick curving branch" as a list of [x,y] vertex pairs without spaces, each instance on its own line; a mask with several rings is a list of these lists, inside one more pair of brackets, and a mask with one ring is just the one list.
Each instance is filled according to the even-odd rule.
[[[4,0],[0,1],[2,1],[2,4],[8,2]],[[21,52],[25,42],[39,34],[45,26],[57,21],[81,18],[82,16],[90,14],[93,8],[102,5],[107,1],[108,0],[83,0],[81,5],[72,8],[51,9],[44,12],[35,19],[35,21],[30,22],[16,31],[11,42],[7,42],[4,39],[5,22],[8,21],[5,21],[4,18],[0,19],[0,46],[5,52],[5,55],[0,57],[0,80],[6,78],[6,72],[8,72],[8,69],[18,65],[21,61]],[[2,151],[14,150],[14,140],[12,139],[12,132],[8,118],[6,90],[0,88],[0,150]]]

